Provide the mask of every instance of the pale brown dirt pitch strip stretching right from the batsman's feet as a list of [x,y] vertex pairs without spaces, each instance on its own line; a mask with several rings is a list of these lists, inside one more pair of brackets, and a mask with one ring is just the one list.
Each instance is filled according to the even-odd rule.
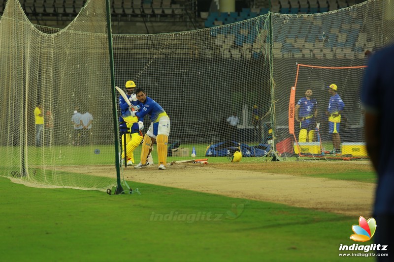
[[[126,180],[183,188],[235,198],[288,204],[350,216],[372,213],[375,184],[327,178],[313,178],[302,174],[302,169],[313,168],[319,174],[335,169],[372,170],[369,162],[260,162],[226,164],[176,164],[166,170],[157,166],[123,170]],[[62,170],[90,175],[113,176],[109,166],[63,167]],[[278,174],[278,170],[283,173]],[[272,172],[270,172],[272,171]],[[267,173],[268,172],[268,173]],[[279,172],[282,173],[282,172]],[[295,173],[295,174],[294,174]],[[131,183],[132,187],[132,183]],[[143,192],[142,192],[143,194]]]

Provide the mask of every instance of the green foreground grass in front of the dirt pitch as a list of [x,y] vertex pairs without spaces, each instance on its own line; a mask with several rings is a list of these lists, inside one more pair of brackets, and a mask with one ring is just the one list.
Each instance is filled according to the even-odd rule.
[[2,260],[340,261],[339,245],[354,243],[357,218],[133,186],[142,194],[38,189],[0,177]]

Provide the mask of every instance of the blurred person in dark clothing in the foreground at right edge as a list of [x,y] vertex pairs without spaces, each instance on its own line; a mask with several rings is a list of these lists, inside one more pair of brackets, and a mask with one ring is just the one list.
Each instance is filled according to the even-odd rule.
[[[368,155],[378,174],[373,216],[378,228],[375,243],[388,245],[389,257],[378,261],[393,261],[394,248],[394,46],[376,52],[369,60],[361,88],[361,104],[365,110],[365,139]],[[391,253],[391,254],[390,254]]]

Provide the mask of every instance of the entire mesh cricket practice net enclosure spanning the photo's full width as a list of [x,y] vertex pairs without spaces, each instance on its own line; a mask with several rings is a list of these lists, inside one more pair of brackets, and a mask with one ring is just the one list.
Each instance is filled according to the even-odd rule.
[[[364,52],[394,42],[393,14],[392,1],[371,0],[328,13],[269,13],[209,29],[113,35],[115,85],[133,80],[159,102],[171,119],[169,144],[262,144],[294,159],[322,158],[325,148],[324,159],[330,159],[342,158],[328,157],[326,86],[336,84],[345,104],[341,153],[350,146],[356,151],[348,149],[353,153],[346,157],[362,158]],[[32,25],[17,0],[7,1],[0,21],[2,176],[75,188],[114,182],[94,176],[95,167],[108,165],[115,178],[118,153],[106,28],[105,0],[88,0],[66,29]],[[317,100],[321,139],[297,145],[290,108],[307,89]],[[37,144],[39,103],[44,124]],[[78,130],[74,111],[85,120],[93,116],[92,128]],[[149,117],[144,123],[147,129]],[[139,155],[140,147],[135,162]]]

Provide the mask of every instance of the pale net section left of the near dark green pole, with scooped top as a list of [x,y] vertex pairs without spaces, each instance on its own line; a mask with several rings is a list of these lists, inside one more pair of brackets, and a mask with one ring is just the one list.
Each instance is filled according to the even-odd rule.
[[[93,170],[82,174],[115,163],[105,1],[94,2],[60,30],[32,25],[17,0],[7,1],[0,21],[1,175],[43,186],[114,183]],[[38,104],[44,123],[36,141]],[[92,123],[84,115],[74,129],[74,111],[89,112]]]

